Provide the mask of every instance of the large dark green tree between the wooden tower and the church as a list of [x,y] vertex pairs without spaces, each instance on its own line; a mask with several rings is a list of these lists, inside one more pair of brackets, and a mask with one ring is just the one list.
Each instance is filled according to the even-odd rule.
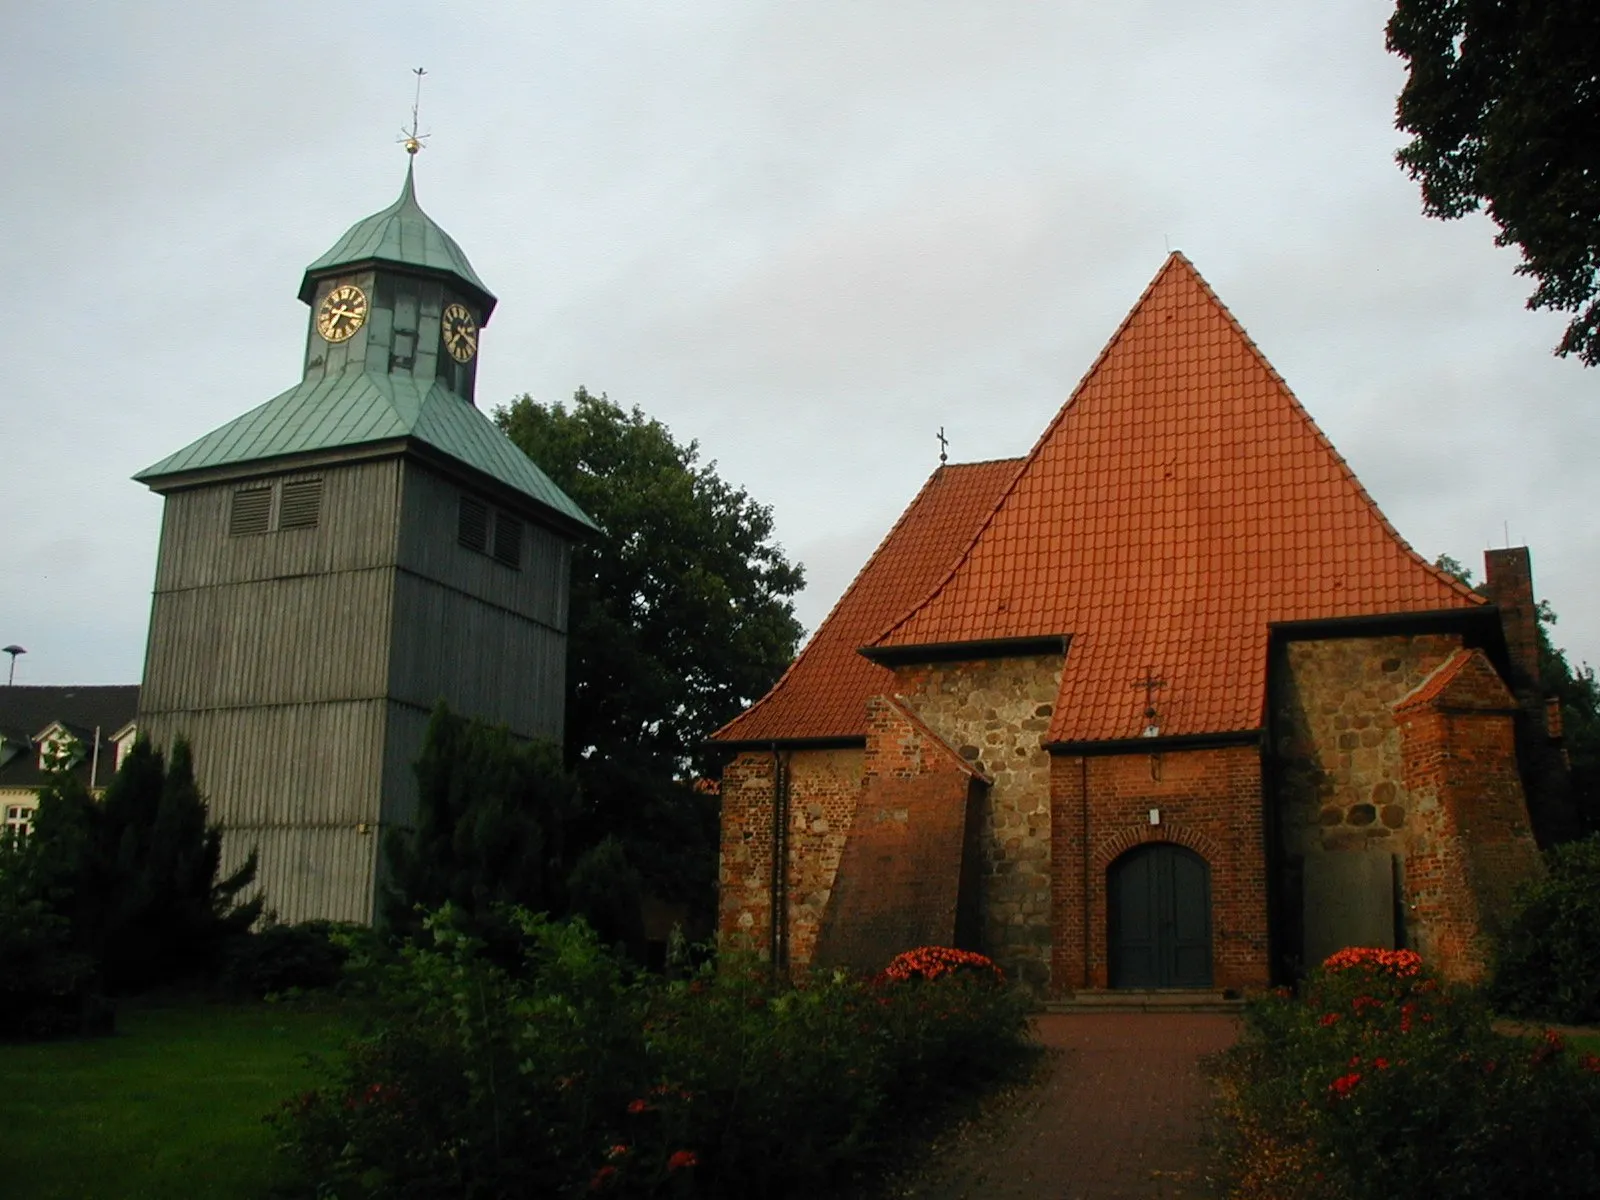
[[622,854],[589,867],[632,864],[656,896],[704,910],[717,864],[717,805],[693,789],[712,770],[704,739],[794,658],[802,571],[773,542],[771,510],[638,408],[578,389],[571,406],[522,397],[496,418],[602,530],[573,555],[570,845],[614,837]]

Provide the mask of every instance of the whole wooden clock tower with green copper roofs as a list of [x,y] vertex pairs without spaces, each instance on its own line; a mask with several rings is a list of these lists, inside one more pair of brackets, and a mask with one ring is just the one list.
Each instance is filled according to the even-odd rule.
[[410,166],[299,299],[299,384],[136,475],[165,498],[139,728],[194,746],[224,870],[256,850],[283,920],[366,922],[438,701],[560,739],[594,526],[474,405],[494,296]]

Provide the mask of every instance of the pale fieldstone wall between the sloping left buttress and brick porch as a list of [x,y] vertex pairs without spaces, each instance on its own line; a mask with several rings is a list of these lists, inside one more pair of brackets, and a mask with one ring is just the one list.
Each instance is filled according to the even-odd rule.
[[1050,754],[1061,654],[899,667],[894,691],[990,781],[981,835],[982,946],[1043,992],[1051,971]]

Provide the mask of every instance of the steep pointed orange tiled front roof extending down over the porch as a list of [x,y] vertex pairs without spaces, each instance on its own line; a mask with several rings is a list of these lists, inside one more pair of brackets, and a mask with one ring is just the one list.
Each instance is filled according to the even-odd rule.
[[1171,254],[960,560],[877,648],[1070,635],[1051,741],[1261,726],[1269,624],[1483,598],[1378,510]]

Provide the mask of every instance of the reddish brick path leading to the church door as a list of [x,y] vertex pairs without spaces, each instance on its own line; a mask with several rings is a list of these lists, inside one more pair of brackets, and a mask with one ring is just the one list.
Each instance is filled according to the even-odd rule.
[[1222,1050],[1230,1016],[1042,1016],[1050,1077],[987,1118],[899,1195],[917,1200],[1112,1200],[1210,1195],[1200,1114],[1202,1054]]

